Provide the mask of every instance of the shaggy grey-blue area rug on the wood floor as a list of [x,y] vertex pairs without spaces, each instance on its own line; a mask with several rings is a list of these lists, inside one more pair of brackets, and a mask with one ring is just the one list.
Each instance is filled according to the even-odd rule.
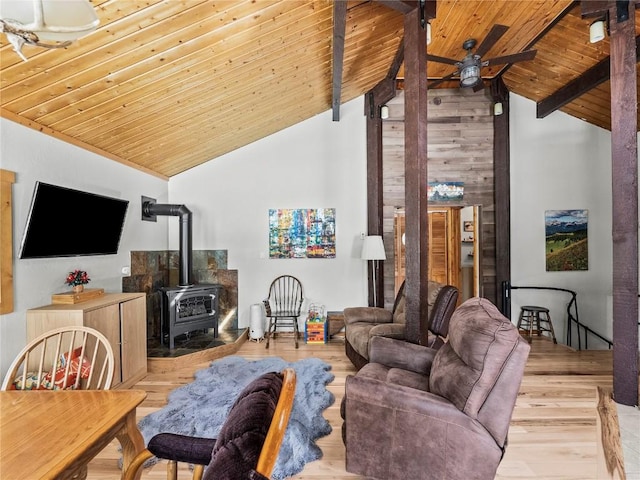
[[140,420],[138,426],[145,445],[160,432],[215,438],[240,391],[263,373],[285,367],[296,371],[296,393],[271,476],[281,480],[299,473],[306,463],[322,457],[316,440],[331,433],[323,411],[335,401],[326,388],[334,375],[330,372],[331,365],[319,358],[286,362],[270,357],[250,361],[232,355],[216,360],[208,368],[197,371],[192,383],[173,390],[164,408]]

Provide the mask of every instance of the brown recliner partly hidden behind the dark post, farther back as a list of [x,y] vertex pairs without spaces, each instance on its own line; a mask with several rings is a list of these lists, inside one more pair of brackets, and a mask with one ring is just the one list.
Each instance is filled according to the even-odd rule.
[[[375,336],[405,338],[405,283],[402,282],[393,310],[380,307],[345,308],[345,353],[356,368],[369,361],[369,343]],[[458,289],[429,281],[429,338],[428,346],[438,348],[449,331],[449,319],[458,303]]]

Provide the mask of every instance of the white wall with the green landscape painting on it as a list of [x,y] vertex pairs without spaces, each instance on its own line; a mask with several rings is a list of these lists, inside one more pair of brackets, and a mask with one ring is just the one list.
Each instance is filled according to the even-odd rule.
[[[536,119],[534,102],[513,94],[510,99],[512,285],[577,292],[580,321],[611,339],[611,134],[562,112]],[[588,271],[545,270],[545,210],[565,209],[589,211]],[[546,306],[556,338],[564,343],[570,298],[564,293],[514,290],[513,320],[524,304]],[[589,348],[607,347],[590,339]]]

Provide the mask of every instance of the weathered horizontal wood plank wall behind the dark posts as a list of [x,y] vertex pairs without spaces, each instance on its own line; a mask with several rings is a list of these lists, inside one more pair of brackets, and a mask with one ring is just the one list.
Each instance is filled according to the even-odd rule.
[[[429,181],[464,182],[463,202],[481,207],[482,291],[497,301],[495,201],[493,174],[493,104],[485,91],[429,90]],[[387,103],[389,119],[383,121],[383,238],[387,253],[384,269],[385,305],[395,293],[394,214],[405,207],[404,193],[404,93]],[[435,203],[429,204],[434,206]],[[426,214],[426,212],[425,212]]]

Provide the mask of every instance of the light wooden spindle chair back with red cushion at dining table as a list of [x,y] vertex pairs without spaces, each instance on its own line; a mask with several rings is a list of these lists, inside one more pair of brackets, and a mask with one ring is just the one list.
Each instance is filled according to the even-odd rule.
[[25,346],[2,382],[2,390],[108,390],[115,360],[107,338],[84,326],[43,333]]

